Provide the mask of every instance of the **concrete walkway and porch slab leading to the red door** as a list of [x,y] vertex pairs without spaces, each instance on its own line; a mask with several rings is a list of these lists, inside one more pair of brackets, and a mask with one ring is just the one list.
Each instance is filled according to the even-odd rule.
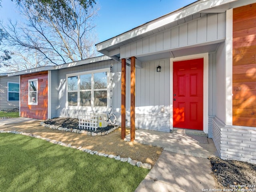
[[[130,135],[126,136],[130,140]],[[208,156],[216,156],[212,139],[198,131],[170,133],[136,130],[135,141],[164,151],[135,192],[199,192],[216,189]]]

